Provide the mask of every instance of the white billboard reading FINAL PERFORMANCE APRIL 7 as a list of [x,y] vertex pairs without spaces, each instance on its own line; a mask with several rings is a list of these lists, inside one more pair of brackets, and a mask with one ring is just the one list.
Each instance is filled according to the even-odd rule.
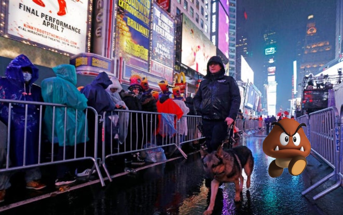
[[71,54],[88,51],[89,0],[36,2],[8,1],[5,33],[10,38]]

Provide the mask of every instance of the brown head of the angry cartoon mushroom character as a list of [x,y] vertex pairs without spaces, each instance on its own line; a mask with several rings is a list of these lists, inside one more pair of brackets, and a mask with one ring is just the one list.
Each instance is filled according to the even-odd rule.
[[[289,135],[293,135],[300,125],[294,119],[288,118],[280,120],[279,123]],[[286,146],[283,146],[280,143],[280,135],[285,131],[279,125],[274,125],[269,135],[263,141],[263,152],[268,156],[275,158],[292,158],[296,155],[307,157],[311,152],[311,144],[307,139],[303,128],[299,128],[297,131],[300,136],[299,146],[294,145],[293,136],[289,137],[288,144]],[[278,147],[279,150],[275,151],[276,147]],[[300,151],[301,147],[303,147],[304,151]]]

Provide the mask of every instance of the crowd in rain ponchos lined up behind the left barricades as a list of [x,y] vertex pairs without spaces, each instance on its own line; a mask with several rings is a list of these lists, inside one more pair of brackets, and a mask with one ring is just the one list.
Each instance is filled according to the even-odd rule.
[[[86,114],[87,107],[94,108],[101,116],[106,113],[105,139],[110,142],[114,141],[119,148],[120,146],[124,147],[122,150],[135,150],[134,147],[137,148],[136,141],[142,138],[143,143],[151,143],[155,140],[157,145],[160,145],[169,138],[168,135],[175,135],[176,132],[180,134],[182,140],[187,135],[189,122],[186,118],[181,119],[181,117],[189,113],[196,115],[192,99],[187,98],[187,102],[185,102],[178,87],[173,88],[173,92],[170,92],[166,80],[159,82],[158,85],[162,91],[159,93],[149,87],[147,78],[132,75],[130,86],[125,91],[117,78],[109,78],[107,73],[102,72],[92,83],[77,88],[75,66],[62,64],[52,70],[56,77],[44,79],[41,86],[34,84],[38,79],[38,68],[27,56],[21,54],[7,66],[5,77],[0,78],[1,99],[47,102],[67,106],[67,108],[43,106],[42,119],[40,118],[39,109],[42,107],[40,105],[12,103],[10,108],[9,103],[0,103],[0,121],[5,127],[2,129],[7,130],[6,127],[10,125],[10,136],[8,137],[10,138],[10,148],[7,149],[7,137],[0,140],[1,168],[6,165],[14,167],[37,164],[41,149],[38,146],[39,134],[42,134],[42,144],[49,143],[50,146],[51,144],[57,146],[54,161],[73,158],[75,152],[76,157],[84,156],[84,147],[87,147],[87,150],[92,148],[94,150],[95,135],[98,137],[98,153],[100,153],[102,130],[98,129],[99,134],[94,133],[95,119],[98,116],[94,116],[94,112],[92,115],[92,111],[88,111]],[[139,117],[138,114],[142,113],[137,112],[135,113],[137,117],[133,117],[134,114],[131,114],[132,119],[130,120],[128,112],[118,114],[114,112],[115,110],[175,114],[178,120],[181,119],[180,126],[175,133],[168,134],[162,123],[164,122],[163,117],[165,117],[163,115],[145,118]],[[146,119],[147,122],[144,121]],[[172,122],[176,122],[175,119]],[[39,130],[40,126],[42,126],[42,131]],[[130,147],[130,149],[125,149],[125,147]],[[42,145],[42,148],[45,147]],[[8,150],[9,164],[7,164],[6,156]],[[94,153],[94,151],[91,150],[88,153]],[[42,156],[42,154],[40,155]],[[140,160],[140,157],[135,156],[135,159]],[[75,168],[75,165],[69,163],[58,164],[55,185],[71,184],[76,180],[75,176],[84,176],[90,171],[87,167],[78,166],[78,170],[75,172]],[[41,180],[42,174],[39,167],[27,168],[24,172],[27,189],[40,190],[46,187]],[[12,175],[13,172],[0,174],[0,202],[4,201],[5,191],[11,186]]]

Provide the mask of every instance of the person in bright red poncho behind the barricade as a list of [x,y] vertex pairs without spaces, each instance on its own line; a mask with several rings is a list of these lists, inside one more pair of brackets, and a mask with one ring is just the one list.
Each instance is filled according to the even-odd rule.
[[[158,86],[162,90],[162,96],[156,102],[157,112],[175,114],[177,120],[179,120],[184,113],[182,112],[180,107],[172,99],[169,98],[169,95],[171,94],[171,92],[168,89],[168,82],[166,80],[160,81],[158,83]],[[167,139],[163,139],[168,135],[166,130],[164,130],[163,128],[164,128],[164,125],[163,125],[163,121],[161,121],[161,115],[158,115],[158,126],[156,129],[156,143],[159,146],[161,146],[162,144],[168,143]],[[176,128],[176,120],[174,120],[174,128]]]

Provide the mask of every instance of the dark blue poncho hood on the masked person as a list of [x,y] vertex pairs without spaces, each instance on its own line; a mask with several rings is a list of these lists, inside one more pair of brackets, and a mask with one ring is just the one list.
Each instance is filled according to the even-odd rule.
[[31,61],[21,54],[16,56],[7,66],[5,76],[8,79],[14,80],[14,82],[19,82],[20,84],[24,83],[24,76],[22,67],[31,67],[32,69],[32,78],[29,81],[29,85],[33,84],[38,79],[38,68],[31,63]]

